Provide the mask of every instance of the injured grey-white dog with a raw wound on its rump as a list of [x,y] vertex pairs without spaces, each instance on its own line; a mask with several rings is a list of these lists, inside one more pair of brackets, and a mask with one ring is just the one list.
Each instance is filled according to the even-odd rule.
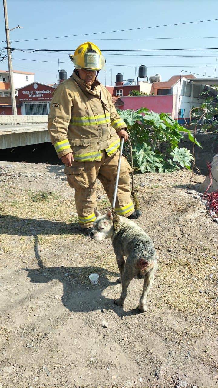
[[[118,306],[123,305],[131,280],[134,277],[144,278],[138,308],[142,312],[147,311],[146,298],[157,269],[157,255],[151,238],[128,218],[118,215],[113,217],[111,210],[107,210],[106,215],[100,215],[95,209],[94,213],[97,218],[93,222],[93,230],[89,236],[95,241],[111,237],[119,267],[122,291],[114,303]],[[126,262],[123,256],[127,257]]]

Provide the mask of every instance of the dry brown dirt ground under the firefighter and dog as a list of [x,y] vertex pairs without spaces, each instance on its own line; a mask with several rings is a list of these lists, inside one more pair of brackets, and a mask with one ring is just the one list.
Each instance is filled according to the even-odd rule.
[[[136,222],[159,256],[140,313],[142,279],[114,304],[111,240],[80,232],[63,166],[0,162],[0,387],[218,386],[218,223],[188,192],[190,176],[134,175]],[[98,210],[107,208],[99,182]]]

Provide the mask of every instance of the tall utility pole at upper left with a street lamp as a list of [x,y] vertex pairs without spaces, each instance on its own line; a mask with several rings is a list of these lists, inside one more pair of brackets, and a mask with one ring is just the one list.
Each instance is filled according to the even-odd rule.
[[11,107],[12,107],[12,114],[17,115],[17,104],[16,104],[15,90],[14,90],[14,78],[13,78],[11,52],[10,52],[10,38],[9,38],[9,26],[8,26],[6,0],[3,0],[3,7],[4,7],[4,16],[5,16],[5,35],[6,35],[6,43],[7,43]]

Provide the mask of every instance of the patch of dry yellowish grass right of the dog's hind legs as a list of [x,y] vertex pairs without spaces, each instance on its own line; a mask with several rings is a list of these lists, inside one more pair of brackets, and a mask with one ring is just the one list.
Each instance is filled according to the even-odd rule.
[[[217,312],[217,271],[212,256],[196,257],[196,262],[186,258],[174,258],[170,262],[159,260],[157,278],[161,299],[156,298],[158,308],[173,307],[179,312],[207,310]],[[212,275],[212,276],[211,276]]]

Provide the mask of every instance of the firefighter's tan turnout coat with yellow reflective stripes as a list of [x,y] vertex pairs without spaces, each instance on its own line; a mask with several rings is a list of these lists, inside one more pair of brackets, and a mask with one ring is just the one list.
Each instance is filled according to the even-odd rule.
[[100,161],[120,144],[117,132],[126,128],[108,90],[95,80],[93,90],[76,75],[53,92],[48,115],[48,131],[59,158],[73,152],[76,161]]

